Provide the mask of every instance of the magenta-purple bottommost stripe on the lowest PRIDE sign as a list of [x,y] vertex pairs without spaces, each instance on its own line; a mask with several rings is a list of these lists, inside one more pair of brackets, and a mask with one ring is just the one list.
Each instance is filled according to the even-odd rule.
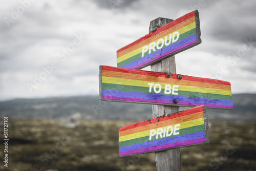
[[153,151],[158,151],[160,149],[181,147],[181,146],[185,146],[185,145],[195,145],[197,143],[202,143],[202,142],[205,142],[205,138],[198,138],[198,139],[194,139],[194,140],[187,140],[187,141],[169,143],[169,144],[164,144],[164,145],[134,149],[134,150],[131,150],[131,151],[120,152],[119,156],[132,155],[132,154],[138,154],[138,153],[146,153],[146,152],[153,152]]

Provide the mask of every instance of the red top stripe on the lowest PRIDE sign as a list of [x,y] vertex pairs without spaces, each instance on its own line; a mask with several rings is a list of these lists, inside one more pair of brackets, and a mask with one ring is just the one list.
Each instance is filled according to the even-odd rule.
[[[202,111],[203,111],[203,106],[198,106],[196,108],[191,108],[186,111],[181,111],[179,113],[175,113],[175,114],[172,114],[169,116],[164,116],[161,118],[153,118],[150,121],[142,121],[142,122],[134,123],[131,125],[127,125],[127,126],[121,127],[118,130],[118,132],[130,130],[130,129],[134,129],[135,127],[140,127],[140,126],[144,126],[144,125],[148,125],[148,124],[152,124],[152,123],[156,123],[156,122],[160,122],[160,121],[164,121],[164,120],[168,120],[168,119],[173,119],[173,118],[177,118],[177,117],[181,117],[181,116],[185,116],[185,115],[189,115],[189,114],[193,114],[193,113],[197,113],[197,112],[202,112]],[[158,119],[159,119],[159,121],[158,121]]]

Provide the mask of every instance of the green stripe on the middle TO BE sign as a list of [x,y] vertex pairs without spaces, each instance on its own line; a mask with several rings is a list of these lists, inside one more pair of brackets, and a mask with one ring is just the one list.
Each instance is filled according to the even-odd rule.
[[[126,92],[150,93],[148,92],[147,87],[127,86],[127,85],[111,84],[111,83],[104,83],[104,82],[102,82],[102,89],[119,90],[119,91],[126,91]],[[154,91],[152,91],[151,93],[155,94]],[[164,94],[164,89],[162,89],[158,94],[166,95]],[[218,99],[218,100],[232,100],[232,96],[229,96],[229,95],[188,92],[188,91],[181,91],[181,90],[179,90],[178,96],[199,97],[199,98]]]

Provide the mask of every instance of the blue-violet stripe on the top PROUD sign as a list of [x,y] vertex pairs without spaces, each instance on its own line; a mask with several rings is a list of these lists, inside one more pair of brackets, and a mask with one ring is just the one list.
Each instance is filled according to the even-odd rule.
[[[120,68],[130,68],[130,69],[136,69],[140,66],[143,66],[147,63],[150,63],[154,60],[160,59],[168,54],[174,53],[178,50],[181,50],[183,48],[188,47],[189,45],[195,44],[197,42],[197,34],[193,34],[191,36],[188,36],[182,40],[179,40],[175,42],[172,45],[169,45],[165,48],[162,48],[160,50],[157,50],[155,52],[152,52],[151,54],[148,54],[146,56],[143,56],[137,60],[134,60],[130,63],[127,63],[126,65],[120,67]],[[152,59],[153,58],[153,59]],[[138,66],[138,67],[136,67]]]

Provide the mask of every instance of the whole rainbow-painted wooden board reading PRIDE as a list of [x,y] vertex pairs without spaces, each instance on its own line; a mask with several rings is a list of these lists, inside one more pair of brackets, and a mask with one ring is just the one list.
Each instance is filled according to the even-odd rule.
[[119,156],[165,151],[209,142],[206,106],[119,129]]

